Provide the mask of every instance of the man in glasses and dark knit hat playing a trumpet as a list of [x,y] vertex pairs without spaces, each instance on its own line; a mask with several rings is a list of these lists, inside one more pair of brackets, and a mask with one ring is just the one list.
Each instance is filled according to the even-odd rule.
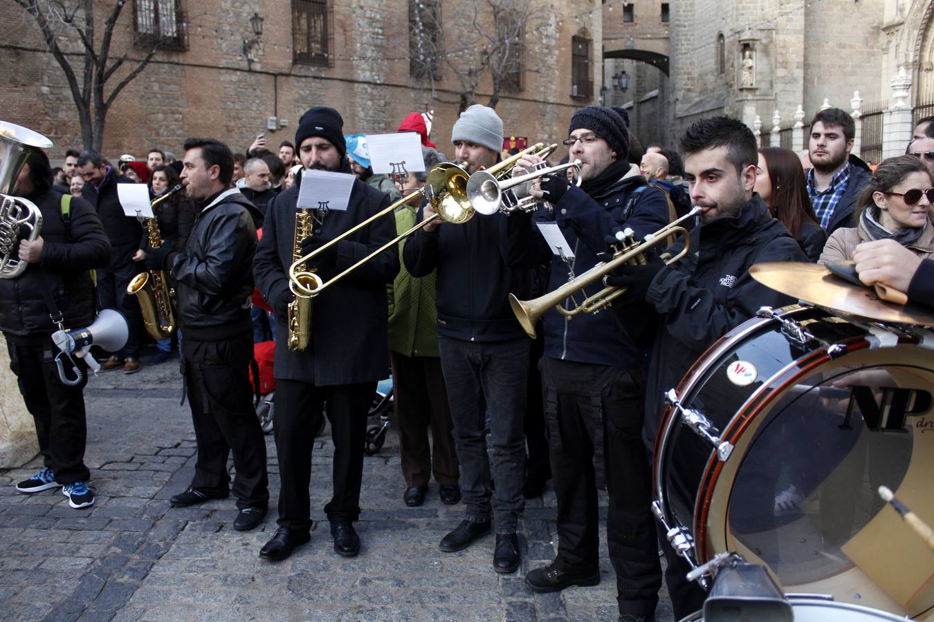
[[[570,186],[563,172],[551,173],[531,194],[553,205],[552,214],[540,212],[536,219],[557,222],[573,258],[553,255],[537,231],[526,247],[513,248],[518,255],[537,249],[537,254],[553,257],[549,291],[597,264],[607,250],[607,236],[625,227],[642,239],[669,218],[662,191],[649,187],[639,168],[627,161],[629,131],[616,112],[601,106],[578,110],[564,145],[571,161],[580,160],[580,187]],[[517,166],[528,169],[537,160],[527,157]],[[525,223],[531,234],[527,216],[514,214],[510,220],[517,227]],[[575,296],[602,288],[603,283],[594,283]],[[641,324],[639,311],[631,311],[624,321]],[[571,318],[552,309],[545,312],[544,326],[542,380],[559,548],[554,562],[532,570],[526,582],[535,592],[600,582],[594,462],[602,460],[610,496],[607,541],[621,619],[651,620],[661,570],[649,509],[650,472],[640,439],[644,351],[618,329],[611,313]]]

